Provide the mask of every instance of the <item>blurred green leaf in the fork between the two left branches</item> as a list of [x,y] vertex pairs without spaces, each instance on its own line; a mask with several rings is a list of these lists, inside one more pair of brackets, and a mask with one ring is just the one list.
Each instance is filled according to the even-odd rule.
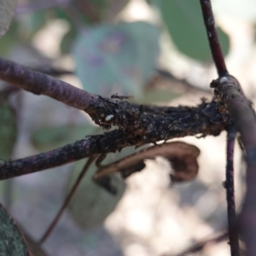
[[44,127],[32,133],[32,143],[38,151],[43,152],[63,147],[101,131],[101,128],[92,125]]

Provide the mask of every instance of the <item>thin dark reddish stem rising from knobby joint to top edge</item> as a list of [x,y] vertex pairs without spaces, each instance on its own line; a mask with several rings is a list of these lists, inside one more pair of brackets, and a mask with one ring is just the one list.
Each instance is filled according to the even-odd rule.
[[224,55],[218,40],[218,33],[215,27],[215,21],[212,14],[212,4],[210,0],[200,0],[201,11],[207,28],[207,38],[212,51],[212,58],[218,71],[218,77],[228,74],[225,65]]

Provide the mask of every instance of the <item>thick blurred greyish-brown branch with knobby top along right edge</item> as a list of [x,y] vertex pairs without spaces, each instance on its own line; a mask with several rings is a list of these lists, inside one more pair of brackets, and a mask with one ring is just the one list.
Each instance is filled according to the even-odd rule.
[[251,103],[244,96],[239,82],[232,76],[213,80],[223,110],[230,113],[236,130],[241,134],[241,142],[246,149],[247,160],[247,193],[240,215],[241,235],[247,247],[247,256],[256,252],[256,117]]

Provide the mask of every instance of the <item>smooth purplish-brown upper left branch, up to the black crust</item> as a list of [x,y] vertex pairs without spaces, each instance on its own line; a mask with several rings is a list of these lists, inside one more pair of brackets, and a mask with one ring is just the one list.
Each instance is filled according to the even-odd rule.
[[29,67],[0,57],[0,79],[28,90],[36,95],[45,95],[63,102],[73,108],[90,111],[89,105],[97,96],[85,90],[80,90],[59,79],[39,73]]

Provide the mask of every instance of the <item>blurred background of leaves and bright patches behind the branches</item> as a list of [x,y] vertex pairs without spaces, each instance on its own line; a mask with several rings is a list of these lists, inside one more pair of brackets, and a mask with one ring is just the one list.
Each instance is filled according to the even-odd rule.
[[[227,67],[255,101],[256,3],[212,0]],[[198,0],[18,0],[0,55],[84,90],[131,102],[195,106],[217,78]],[[1,84],[7,90],[8,84]],[[46,96],[13,89],[0,108],[0,157],[17,159],[102,133],[87,114]],[[118,195],[91,182],[91,166],[55,230],[36,245],[60,209],[84,160],[0,183],[3,205],[35,243],[35,255],[176,255],[226,229],[225,132],[178,139],[201,150],[195,180],[172,183],[172,166],[147,160],[115,179]],[[3,138],[3,139],[2,139]],[[106,163],[132,154],[125,148]],[[236,204],[244,164],[236,145]],[[195,255],[230,255],[227,241]]]

